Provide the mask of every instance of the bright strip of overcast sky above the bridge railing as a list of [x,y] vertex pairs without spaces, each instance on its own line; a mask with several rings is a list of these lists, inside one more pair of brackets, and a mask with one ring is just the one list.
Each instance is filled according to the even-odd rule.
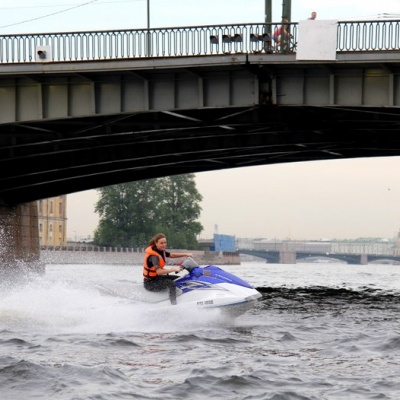
[[[292,21],[377,18],[400,13],[399,0],[292,0]],[[7,4],[7,5],[6,5]],[[0,6],[0,34],[147,27],[147,0],[13,0]],[[265,20],[265,0],[149,0],[150,25],[212,25]],[[279,21],[282,0],[272,0]]]

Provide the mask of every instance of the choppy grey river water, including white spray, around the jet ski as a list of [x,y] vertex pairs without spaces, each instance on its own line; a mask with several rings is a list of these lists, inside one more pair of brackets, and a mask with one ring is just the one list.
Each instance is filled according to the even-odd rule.
[[134,287],[140,266],[3,281],[1,400],[400,398],[400,266],[223,269],[263,294],[236,319],[99,290]]

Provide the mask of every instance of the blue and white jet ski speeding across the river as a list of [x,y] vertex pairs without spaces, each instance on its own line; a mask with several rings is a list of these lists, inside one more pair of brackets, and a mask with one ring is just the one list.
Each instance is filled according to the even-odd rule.
[[[136,297],[152,308],[191,305],[197,309],[218,309],[230,316],[239,316],[254,307],[262,295],[252,285],[232,273],[215,266],[200,267],[192,257],[178,264],[182,271],[175,279],[177,305],[171,305],[168,290],[146,291]],[[139,300],[139,299],[138,299]]]

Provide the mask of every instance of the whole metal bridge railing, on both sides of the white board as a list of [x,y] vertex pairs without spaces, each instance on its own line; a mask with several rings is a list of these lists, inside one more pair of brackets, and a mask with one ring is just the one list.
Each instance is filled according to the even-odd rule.
[[[280,23],[187,26],[91,32],[0,35],[0,63],[187,57],[225,53],[296,52],[298,23],[277,46]],[[400,50],[400,20],[338,22],[337,51]]]

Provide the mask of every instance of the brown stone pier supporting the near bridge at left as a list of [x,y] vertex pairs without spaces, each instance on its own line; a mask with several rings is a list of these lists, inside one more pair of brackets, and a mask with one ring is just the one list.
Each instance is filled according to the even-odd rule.
[[44,272],[37,203],[0,205],[0,274]]

